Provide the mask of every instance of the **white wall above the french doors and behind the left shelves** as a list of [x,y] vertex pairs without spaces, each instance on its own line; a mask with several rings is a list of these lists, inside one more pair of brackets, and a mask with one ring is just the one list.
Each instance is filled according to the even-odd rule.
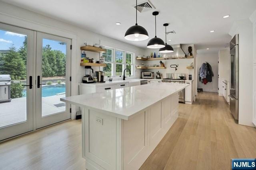
[[[84,76],[84,68],[80,66],[80,46],[84,44],[84,41],[91,41],[110,47],[124,49],[126,51],[135,53],[135,56],[144,54],[144,49],[134,45],[123,43],[116,39],[112,39],[86,29],[74,27],[68,23],[54,20],[52,18],[36,14],[29,10],[13,6],[2,1],[0,1],[0,22],[72,39],[72,96],[78,94],[78,82],[80,82]],[[99,57],[98,53],[88,52],[87,55],[92,58]],[[99,68],[95,67],[94,70],[99,70]],[[140,74],[140,71],[136,71],[136,73]],[[75,110],[77,110],[77,107],[75,109],[75,107],[72,106],[72,118],[75,118]]]

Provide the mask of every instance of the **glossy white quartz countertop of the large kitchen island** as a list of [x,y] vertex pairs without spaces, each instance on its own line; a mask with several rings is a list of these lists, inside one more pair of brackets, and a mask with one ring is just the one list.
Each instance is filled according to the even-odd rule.
[[61,98],[80,107],[128,120],[156,102],[179,92],[188,84],[153,83]]

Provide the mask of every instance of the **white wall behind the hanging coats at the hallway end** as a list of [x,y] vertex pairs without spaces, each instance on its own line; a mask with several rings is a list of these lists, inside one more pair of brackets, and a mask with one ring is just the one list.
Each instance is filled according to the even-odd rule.
[[198,73],[202,64],[208,62],[212,66],[212,71],[214,74],[214,76],[212,77],[212,82],[208,82],[207,84],[203,84],[199,81],[198,78],[197,87],[203,88],[205,92],[218,92],[218,53],[215,52],[197,54],[196,59]]

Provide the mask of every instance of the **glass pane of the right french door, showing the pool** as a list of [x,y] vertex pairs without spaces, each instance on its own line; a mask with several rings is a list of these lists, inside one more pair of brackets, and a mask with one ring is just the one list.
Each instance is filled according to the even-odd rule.
[[42,39],[42,117],[66,111],[67,43]]

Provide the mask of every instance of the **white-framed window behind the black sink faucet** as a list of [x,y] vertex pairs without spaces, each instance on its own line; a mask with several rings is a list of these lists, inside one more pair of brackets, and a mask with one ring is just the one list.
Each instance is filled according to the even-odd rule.
[[125,68],[131,70],[131,74],[126,70],[126,76],[134,75],[134,53],[112,48],[106,48],[106,50],[107,52],[102,54],[107,64],[103,67],[106,76],[123,76]]

